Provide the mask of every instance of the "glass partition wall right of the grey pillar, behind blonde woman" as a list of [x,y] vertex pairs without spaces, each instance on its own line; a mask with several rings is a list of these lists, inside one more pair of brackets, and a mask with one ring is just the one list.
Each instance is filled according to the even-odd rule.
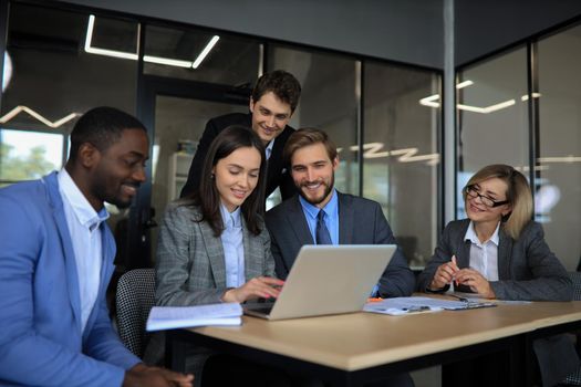
[[457,73],[457,217],[476,170],[512,165],[529,178],[535,219],[568,270],[581,255],[580,48],[572,27]]

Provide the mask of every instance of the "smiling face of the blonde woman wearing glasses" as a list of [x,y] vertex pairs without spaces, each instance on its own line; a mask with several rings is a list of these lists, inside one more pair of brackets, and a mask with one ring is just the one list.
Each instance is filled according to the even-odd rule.
[[[475,190],[484,197],[491,199],[492,201],[505,201],[507,200],[507,184],[497,178],[492,177],[474,185]],[[479,196],[471,197],[466,195],[465,199],[466,215],[474,222],[499,222],[500,219],[510,212],[510,205],[502,205],[498,207],[488,207],[483,202]]]

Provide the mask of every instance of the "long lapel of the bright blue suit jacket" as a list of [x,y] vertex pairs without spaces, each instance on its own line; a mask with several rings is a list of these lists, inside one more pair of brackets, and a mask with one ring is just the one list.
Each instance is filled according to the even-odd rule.
[[76,261],[74,258],[73,242],[71,240],[71,233],[66,226],[66,218],[64,216],[64,209],[59,191],[59,182],[56,180],[56,172],[53,172],[44,178],[46,181],[49,202],[52,207],[54,223],[59,231],[61,239],[61,245],[63,249],[64,265],[66,271],[66,290],[69,291],[69,300],[71,307],[76,321],[79,332],[82,331],[81,326],[81,295],[79,290],[79,274],[76,271]]

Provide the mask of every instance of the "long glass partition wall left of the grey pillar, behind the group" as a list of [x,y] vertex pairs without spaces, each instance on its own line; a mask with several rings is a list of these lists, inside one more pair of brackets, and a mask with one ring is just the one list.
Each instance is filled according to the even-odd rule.
[[[302,85],[291,125],[320,127],[340,147],[338,189],[382,205],[413,266],[429,258],[439,232],[442,128],[439,106],[422,100],[439,94],[440,72],[59,2],[10,2],[7,25],[0,185],[60,169],[75,119],[94,106],[148,126],[148,182],[131,213],[111,209],[122,266],[152,264],[156,223],[206,119],[248,112],[251,86],[276,69]],[[279,201],[272,196],[269,207]]]

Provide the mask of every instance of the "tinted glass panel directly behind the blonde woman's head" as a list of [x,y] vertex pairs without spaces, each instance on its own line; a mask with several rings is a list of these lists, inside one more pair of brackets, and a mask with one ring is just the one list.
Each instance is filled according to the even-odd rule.
[[457,217],[461,188],[480,168],[508,164],[529,171],[527,51],[520,49],[459,73]]

